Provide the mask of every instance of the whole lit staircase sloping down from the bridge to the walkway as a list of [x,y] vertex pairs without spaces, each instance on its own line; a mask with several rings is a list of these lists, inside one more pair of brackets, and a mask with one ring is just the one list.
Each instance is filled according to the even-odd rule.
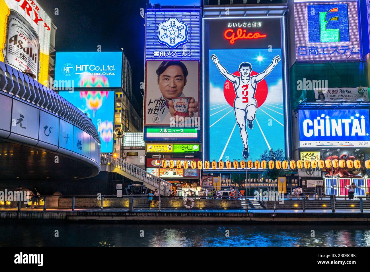
[[116,158],[110,153],[101,153],[100,161],[101,171],[116,172],[132,181],[138,179],[149,189],[157,188],[161,195],[169,195],[171,183],[148,173],[136,165],[130,164],[121,158]]

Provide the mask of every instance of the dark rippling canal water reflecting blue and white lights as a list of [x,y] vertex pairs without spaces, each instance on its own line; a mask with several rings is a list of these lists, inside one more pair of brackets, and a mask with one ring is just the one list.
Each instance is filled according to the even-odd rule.
[[0,246],[370,246],[370,226],[9,222]]

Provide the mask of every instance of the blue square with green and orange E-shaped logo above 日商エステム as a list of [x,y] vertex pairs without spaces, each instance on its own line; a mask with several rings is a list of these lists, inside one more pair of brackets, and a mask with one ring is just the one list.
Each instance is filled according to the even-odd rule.
[[307,5],[307,19],[310,43],[350,41],[347,4]]

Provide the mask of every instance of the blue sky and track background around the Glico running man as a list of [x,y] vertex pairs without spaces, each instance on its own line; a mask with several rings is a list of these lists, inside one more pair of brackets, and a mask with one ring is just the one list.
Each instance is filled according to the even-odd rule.
[[[270,52],[266,48],[211,49],[209,56],[212,54],[216,54],[229,73],[238,71],[239,64],[245,61],[252,64],[253,71],[261,73],[272,62],[273,57],[283,57],[280,48],[274,48]],[[256,95],[262,91],[262,84],[267,84],[268,93],[265,102],[258,104],[253,129],[247,128],[248,159],[259,159],[266,149],[285,150],[282,71],[280,61],[265,78],[265,83],[261,81],[257,85]],[[213,61],[209,61],[209,159],[240,161],[243,159],[243,142],[234,109],[225,98],[225,82],[226,78]]]

